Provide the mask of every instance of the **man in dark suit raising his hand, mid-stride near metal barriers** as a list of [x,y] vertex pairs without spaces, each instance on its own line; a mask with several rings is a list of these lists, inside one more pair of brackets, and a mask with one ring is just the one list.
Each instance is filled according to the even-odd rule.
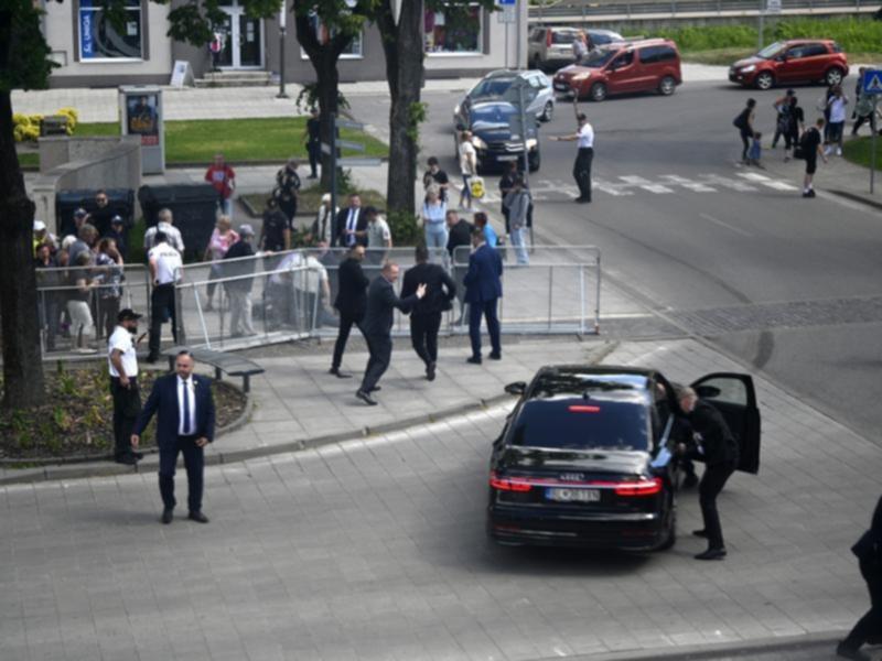
[[362,322],[362,333],[367,342],[370,359],[365,368],[362,387],[355,397],[369,407],[377,405],[370,393],[379,390],[377,382],[389,367],[392,357],[391,329],[395,308],[407,312],[426,295],[426,285],[421,283],[411,296],[399,299],[395,295],[392,286],[396,280],[398,280],[398,264],[386,262],[383,264],[379,278],[375,279],[367,290],[367,310]]

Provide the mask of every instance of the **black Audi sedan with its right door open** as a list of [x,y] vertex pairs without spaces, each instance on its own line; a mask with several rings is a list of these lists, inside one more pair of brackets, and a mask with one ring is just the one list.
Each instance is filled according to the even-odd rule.
[[[747,375],[692,384],[727,419],[739,469],[760,464],[760,413]],[[494,442],[487,533],[507,544],[668,549],[685,424],[674,387],[632,367],[553,366],[510,383],[520,399]]]

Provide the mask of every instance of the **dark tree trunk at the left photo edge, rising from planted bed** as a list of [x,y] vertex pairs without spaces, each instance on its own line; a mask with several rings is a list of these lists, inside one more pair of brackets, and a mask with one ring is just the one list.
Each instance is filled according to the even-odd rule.
[[12,136],[12,99],[0,91],[0,316],[3,344],[2,407],[24,409],[43,402],[43,362],[34,273],[34,204]]

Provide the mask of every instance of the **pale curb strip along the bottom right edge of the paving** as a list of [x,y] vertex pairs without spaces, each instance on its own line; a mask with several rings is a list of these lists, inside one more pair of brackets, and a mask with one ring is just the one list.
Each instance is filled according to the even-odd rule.
[[[821,631],[799,636],[782,636],[781,638],[763,638],[753,641],[735,641],[721,643],[703,643],[681,646],[671,650],[634,650],[632,652],[611,652],[601,654],[578,654],[567,657],[568,661],[701,661],[710,659],[730,659],[755,654],[765,654],[784,651],[799,651],[818,648],[818,651],[829,651],[835,654],[836,644],[845,638],[848,631]],[[550,661],[560,657],[542,657],[536,661]]]

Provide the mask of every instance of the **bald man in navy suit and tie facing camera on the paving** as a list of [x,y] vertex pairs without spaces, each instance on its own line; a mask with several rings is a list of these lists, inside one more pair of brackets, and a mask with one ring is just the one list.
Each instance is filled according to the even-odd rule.
[[178,454],[184,454],[190,519],[207,523],[202,513],[202,476],[205,467],[203,448],[214,441],[214,398],[211,379],[193,373],[193,355],[181,351],[174,362],[174,375],[160,377],[144,404],[131,445],[137,448],[141,434],[157,413],[159,446],[159,491],[162,495],[162,522],[172,522],[174,510],[174,467]]

